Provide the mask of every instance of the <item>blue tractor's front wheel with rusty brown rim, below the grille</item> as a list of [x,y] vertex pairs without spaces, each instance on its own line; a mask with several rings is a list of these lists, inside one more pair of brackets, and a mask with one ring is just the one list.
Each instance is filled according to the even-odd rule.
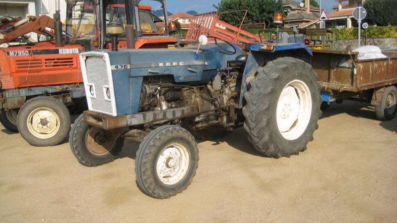
[[78,116],[70,130],[69,143],[74,157],[87,167],[114,161],[124,145],[124,138],[116,138],[110,131],[84,123],[83,116]]

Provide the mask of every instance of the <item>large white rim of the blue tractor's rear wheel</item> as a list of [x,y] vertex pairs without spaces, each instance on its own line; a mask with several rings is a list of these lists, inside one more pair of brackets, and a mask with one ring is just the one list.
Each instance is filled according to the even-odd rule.
[[312,113],[312,97],[308,86],[293,80],[282,90],[276,108],[278,131],[288,139],[299,138],[306,130]]

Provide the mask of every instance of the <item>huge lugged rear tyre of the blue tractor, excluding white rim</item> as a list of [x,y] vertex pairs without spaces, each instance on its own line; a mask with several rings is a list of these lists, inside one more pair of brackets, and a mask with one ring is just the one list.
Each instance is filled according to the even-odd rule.
[[[295,140],[287,140],[278,131],[275,108],[281,90],[294,79],[301,79],[311,89],[313,108],[305,132]],[[243,108],[246,117],[244,128],[255,149],[274,158],[290,157],[306,150],[307,143],[313,140],[313,133],[318,129],[317,120],[321,116],[320,89],[317,73],[302,60],[282,57],[259,68],[255,78],[250,80],[249,91],[244,95],[247,103]]]

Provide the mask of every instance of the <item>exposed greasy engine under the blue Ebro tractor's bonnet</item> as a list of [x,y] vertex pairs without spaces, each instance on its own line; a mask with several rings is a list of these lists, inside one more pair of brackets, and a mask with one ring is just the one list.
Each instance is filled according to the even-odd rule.
[[[194,123],[214,123],[224,125],[226,113],[215,111],[219,107],[234,104],[239,100],[242,73],[225,72],[217,74],[206,85],[191,86],[175,83],[172,76],[144,78],[139,112],[161,111],[167,109],[197,106],[199,111],[208,111],[194,118]],[[219,121],[219,123],[218,123]],[[193,128],[202,128],[201,123]]]

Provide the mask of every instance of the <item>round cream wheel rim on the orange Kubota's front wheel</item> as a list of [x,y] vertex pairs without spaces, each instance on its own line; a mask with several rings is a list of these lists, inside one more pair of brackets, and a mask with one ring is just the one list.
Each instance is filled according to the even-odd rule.
[[37,138],[49,139],[57,134],[61,120],[49,108],[38,108],[30,112],[27,119],[29,132]]

